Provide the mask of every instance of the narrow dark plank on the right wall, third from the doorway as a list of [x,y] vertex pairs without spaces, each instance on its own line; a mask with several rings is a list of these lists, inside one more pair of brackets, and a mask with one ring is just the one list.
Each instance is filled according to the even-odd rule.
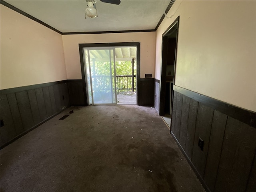
[[190,98],[183,95],[182,114],[181,114],[182,120],[180,121],[180,138],[179,138],[180,145],[182,146],[183,149],[185,149],[186,147],[189,105],[190,105]]

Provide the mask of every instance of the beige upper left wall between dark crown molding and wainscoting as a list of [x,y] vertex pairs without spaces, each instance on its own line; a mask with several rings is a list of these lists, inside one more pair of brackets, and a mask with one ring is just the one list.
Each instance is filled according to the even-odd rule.
[[1,5],[1,89],[66,80],[62,36]]

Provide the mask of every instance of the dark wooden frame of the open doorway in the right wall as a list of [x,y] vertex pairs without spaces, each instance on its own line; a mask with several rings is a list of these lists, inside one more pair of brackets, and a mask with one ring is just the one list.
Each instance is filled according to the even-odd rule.
[[[168,58],[168,36],[177,30],[176,36],[176,51],[175,51],[175,61],[174,61],[174,74],[173,74],[173,85],[175,85],[176,76],[176,62],[177,62],[177,47],[178,47],[178,32],[179,32],[179,20],[178,16],[174,22],[166,29],[162,34],[162,67],[161,67],[161,81],[160,81],[160,104],[159,104],[159,115],[164,115],[164,105],[165,105],[165,84],[166,84],[166,68],[167,68],[167,58]],[[173,109],[173,91],[172,91],[172,109]]]

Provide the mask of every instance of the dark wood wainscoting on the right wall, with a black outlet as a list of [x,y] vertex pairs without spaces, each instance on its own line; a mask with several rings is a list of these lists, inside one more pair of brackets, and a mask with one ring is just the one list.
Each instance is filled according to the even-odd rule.
[[172,112],[171,134],[206,190],[255,191],[255,112],[177,86]]

